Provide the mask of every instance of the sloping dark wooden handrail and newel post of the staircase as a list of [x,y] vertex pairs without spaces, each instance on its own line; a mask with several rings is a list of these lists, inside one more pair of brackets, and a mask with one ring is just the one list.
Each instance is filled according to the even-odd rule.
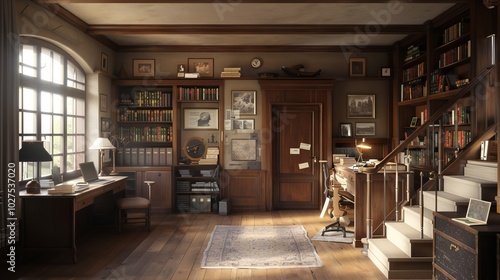
[[[415,137],[417,137],[420,132],[426,130],[430,124],[434,124],[438,120],[441,119],[443,113],[448,110],[453,104],[455,104],[460,98],[464,97],[466,93],[471,91],[475,86],[484,81],[484,78],[488,73],[490,73],[494,69],[494,66],[487,67],[483,70],[476,78],[474,78],[469,84],[464,86],[456,95],[448,99],[448,101],[438,108],[433,115],[429,117],[429,119],[423,123],[420,127],[416,128],[403,142],[401,142],[396,148],[394,148],[387,156],[385,156],[378,164],[370,167],[359,167],[358,171],[366,174],[366,240],[363,241],[363,254],[368,254],[368,240],[372,238],[372,229],[373,229],[373,218],[372,218],[372,210],[371,210],[371,187],[372,187],[372,178],[371,175],[380,171],[380,169],[387,165],[389,160],[395,158],[400,152],[402,152],[408,144],[413,141]],[[396,184],[398,182],[396,181]],[[397,207],[397,205],[396,205]],[[437,208],[436,208],[437,209]]]

